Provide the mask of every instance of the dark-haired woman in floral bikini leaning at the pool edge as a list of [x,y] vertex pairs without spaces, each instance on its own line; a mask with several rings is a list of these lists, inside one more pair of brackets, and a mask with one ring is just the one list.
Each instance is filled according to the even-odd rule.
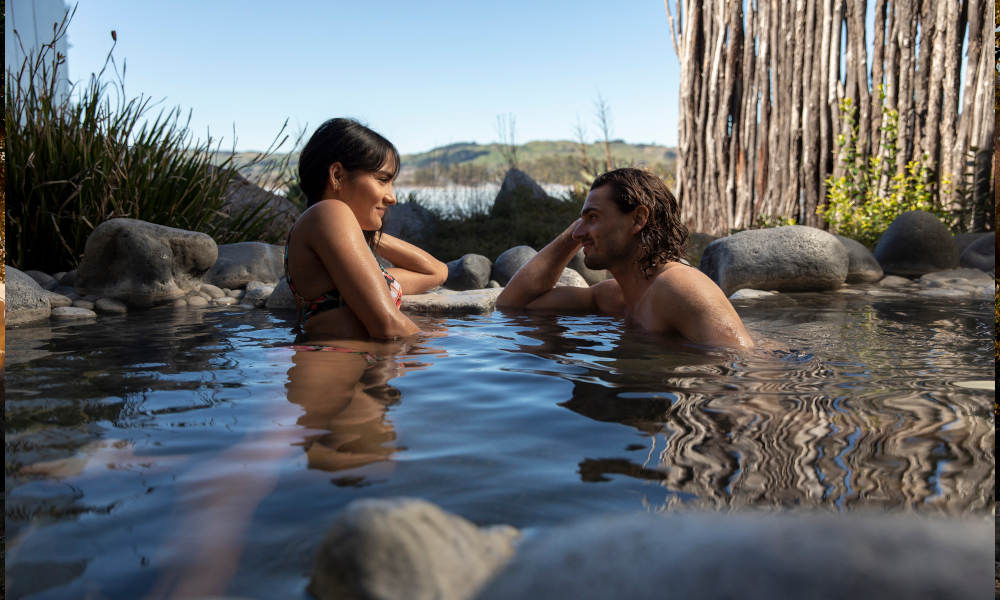
[[[285,276],[311,339],[391,339],[419,331],[399,310],[403,294],[441,285],[448,267],[430,254],[381,233],[396,203],[392,182],[399,152],[351,119],[319,126],[299,156],[307,209],[292,226]],[[382,256],[394,267],[383,269]]]

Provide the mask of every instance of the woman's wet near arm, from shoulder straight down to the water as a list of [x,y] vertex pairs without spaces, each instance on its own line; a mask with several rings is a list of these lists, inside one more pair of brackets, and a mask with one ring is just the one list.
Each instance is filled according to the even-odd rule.
[[396,308],[375,256],[347,204],[327,201],[312,209],[300,234],[319,256],[340,295],[364,324],[368,335],[389,339],[420,331]]

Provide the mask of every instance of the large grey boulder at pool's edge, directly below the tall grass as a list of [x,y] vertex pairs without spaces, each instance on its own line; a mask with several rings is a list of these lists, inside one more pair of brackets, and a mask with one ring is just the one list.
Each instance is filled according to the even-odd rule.
[[110,219],[87,238],[75,283],[80,294],[152,306],[201,285],[218,248],[204,233],[137,219]]

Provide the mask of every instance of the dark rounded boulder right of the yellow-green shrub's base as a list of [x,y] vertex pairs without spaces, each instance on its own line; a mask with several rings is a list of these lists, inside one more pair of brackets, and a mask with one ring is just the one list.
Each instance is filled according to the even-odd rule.
[[889,225],[875,258],[889,275],[918,277],[958,266],[955,238],[937,217],[922,210],[905,212]]

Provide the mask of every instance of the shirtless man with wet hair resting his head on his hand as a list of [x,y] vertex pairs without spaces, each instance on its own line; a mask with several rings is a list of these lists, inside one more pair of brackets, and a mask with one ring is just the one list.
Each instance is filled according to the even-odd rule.
[[[640,169],[599,176],[580,218],[514,275],[497,306],[624,315],[626,326],[713,346],[753,347],[729,299],[701,271],[682,264],[687,228],[659,177]],[[583,246],[584,263],[614,279],[587,288],[553,287]]]

